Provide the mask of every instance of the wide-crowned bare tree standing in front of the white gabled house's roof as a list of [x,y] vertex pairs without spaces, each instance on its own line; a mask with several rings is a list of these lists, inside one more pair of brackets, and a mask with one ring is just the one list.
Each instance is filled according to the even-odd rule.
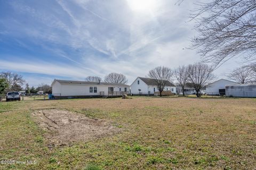
[[165,84],[167,81],[171,81],[172,75],[172,70],[164,66],[158,66],[149,71],[148,77],[154,80],[161,97]]

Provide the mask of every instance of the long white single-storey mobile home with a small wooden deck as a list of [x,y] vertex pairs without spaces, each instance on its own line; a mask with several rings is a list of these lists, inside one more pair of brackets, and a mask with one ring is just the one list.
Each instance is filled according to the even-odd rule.
[[129,86],[121,83],[56,80],[51,84],[55,98],[86,98],[100,96],[121,96]]

